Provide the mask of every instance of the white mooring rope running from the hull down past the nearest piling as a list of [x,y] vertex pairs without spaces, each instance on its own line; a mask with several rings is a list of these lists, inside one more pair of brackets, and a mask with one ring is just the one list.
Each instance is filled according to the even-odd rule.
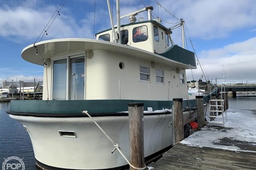
[[119,144],[115,144],[115,143],[114,143],[114,141],[109,137],[109,135],[107,135],[107,133],[103,130],[103,128],[101,128],[101,126],[98,125],[97,122],[95,122],[95,120],[92,118],[91,115],[89,115],[89,113],[88,113],[86,110],[83,110],[82,113],[85,113],[87,116],[89,116],[89,118],[92,119],[92,121],[95,123],[95,125],[98,126],[98,128],[103,132],[103,134],[106,135],[107,138],[109,138],[109,140],[112,142],[113,146],[115,147],[115,148],[113,149],[112,153],[114,153],[115,150],[118,150],[119,153],[122,155],[122,157],[124,157],[124,159],[126,160],[126,162],[129,164],[129,166],[131,166],[132,168],[137,169],[137,170],[146,169],[146,164],[144,164],[145,166],[144,166],[143,168],[137,168],[137,167],[131,165],[131,163],[129,162],[129,160],[127,159],[127,157],[125,157],[124,154],[121,152],[121,149],[120,149],[120,147],[119,147]]

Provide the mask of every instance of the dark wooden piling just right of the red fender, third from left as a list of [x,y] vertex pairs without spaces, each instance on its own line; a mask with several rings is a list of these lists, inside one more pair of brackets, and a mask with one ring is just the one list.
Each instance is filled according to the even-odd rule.
[[195,96],[195,100],[197,101],[197,120],[198,120],[198,129],[203,128],[204,126],[204,97],[203,95]]

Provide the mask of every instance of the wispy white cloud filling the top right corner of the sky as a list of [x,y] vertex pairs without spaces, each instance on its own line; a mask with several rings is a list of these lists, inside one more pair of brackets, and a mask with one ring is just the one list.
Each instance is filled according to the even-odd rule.
[[[182,0],[165,1],[165,7],[170,7],[171,13],[183,18],[192,37],[201,39],[225,38],[234,30],[256,25],[256,1],[232,0]],[[161,13],[164,9],[158,8]],[[168,17],[165,20],[176,18]]]

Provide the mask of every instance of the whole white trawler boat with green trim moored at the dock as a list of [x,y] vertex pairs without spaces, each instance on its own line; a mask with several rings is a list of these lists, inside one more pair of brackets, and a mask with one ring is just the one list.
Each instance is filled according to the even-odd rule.
[[[185,81],[185,70],[196,68],[194,53],[169,44],[171,30],[152,19],[152,10],[124,16],[131,22],[96,39],[52,39],[22,51],[24,60],[44,66],[43,100],[11,101],[7,113],[28,131],[38,167],[128,165],[85,110],[129,157],[128,103],[144,103],[146,159],[173,144],[173,98],[184,99],[184,125],[194,120]],[[143,11],[148,20],[135,22]]]

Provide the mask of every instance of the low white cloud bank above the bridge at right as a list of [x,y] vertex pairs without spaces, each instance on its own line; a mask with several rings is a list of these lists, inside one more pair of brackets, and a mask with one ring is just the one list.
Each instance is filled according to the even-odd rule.
[[[219,81],[256,81],[256,37],[243,42],[226,45],[215,50],[204,50],[199,52],[198,57],[203,64],[206,79]],[[200,66],[192,70],[194,79],[199,79],[202,75]],[[187,71],[187,78],[192,79],[191,71]]]

